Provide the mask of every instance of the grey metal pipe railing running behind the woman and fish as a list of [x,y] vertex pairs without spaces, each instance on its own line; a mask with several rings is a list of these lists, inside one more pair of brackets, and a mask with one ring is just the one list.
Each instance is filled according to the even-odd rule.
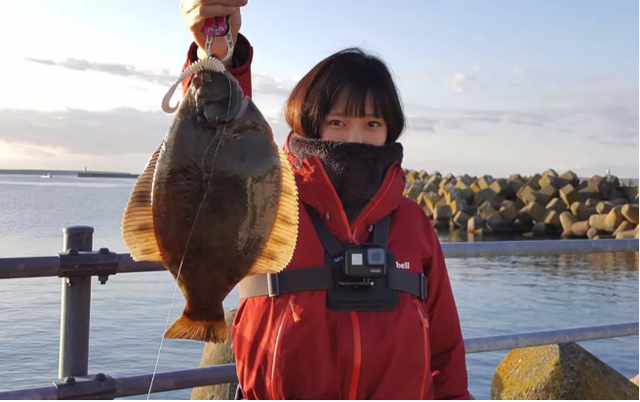
[[[134,262],[129,254],[106,248],[93,250],[90,226],[63,229],[63,250],[52,256],[0,258],[0,279],[60,277],[62,300],[58,380],[39,388],[0,392],[0,399],[113,399],[146,394],[151,374],[112,378],[103,373],[89,375],[89,322],[91,278],[105,284],[110,275],[162,271],[156,263]],[[531,240],[477,243],[442,243],[446,258],[490,256],[586,254],[637,252],[637,239]],[[523,334],[465,339],[467,353],[508,350],[562,342],[638,335],[638,322],[569,328]],[[235,382],[234,364],[156,373],[151,392]]]

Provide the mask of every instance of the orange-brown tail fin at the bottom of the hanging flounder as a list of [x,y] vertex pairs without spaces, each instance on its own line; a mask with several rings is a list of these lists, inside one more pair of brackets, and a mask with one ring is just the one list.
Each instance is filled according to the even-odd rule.
[[167,329],[164,333],[164,338],[225,343],[228,339],[228,331],[224,316],[215,321],[199,321],[182,314]]

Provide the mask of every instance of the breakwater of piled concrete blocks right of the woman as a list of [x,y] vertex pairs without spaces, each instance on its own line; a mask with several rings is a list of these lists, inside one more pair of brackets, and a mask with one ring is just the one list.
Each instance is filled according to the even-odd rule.
[[562,238],[638,238],[638,186],[614,175],[574,172],[508,178],[443,176],[405,169],[404,195],[438,229]]

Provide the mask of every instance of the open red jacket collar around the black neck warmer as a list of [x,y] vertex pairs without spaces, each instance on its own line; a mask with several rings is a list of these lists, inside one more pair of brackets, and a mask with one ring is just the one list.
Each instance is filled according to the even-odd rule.
[[344,210],[320,159],[316,156],[298,160],[289,149],[287,136],[283,151],[294,171],[300,201],[309,205],[325,219],[325,224],[340,241],[362,242],[369,235],[369,226],[395,210],[402,200],[405,187],[404,172],[400,163],[394,163],[387,171],[380,189],[349,226]]

